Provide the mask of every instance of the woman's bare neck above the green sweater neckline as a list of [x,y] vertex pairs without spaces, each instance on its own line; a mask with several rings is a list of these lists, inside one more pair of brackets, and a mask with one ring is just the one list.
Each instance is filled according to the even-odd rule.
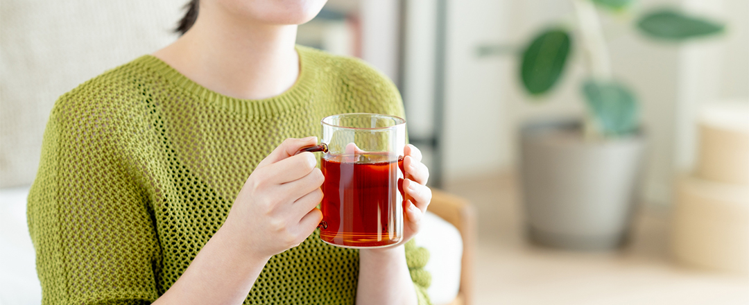
[[282,94],[300,73],[297,25],[262,25],[201,7],[195,25],[154,56],[220,94],[259,100]]

